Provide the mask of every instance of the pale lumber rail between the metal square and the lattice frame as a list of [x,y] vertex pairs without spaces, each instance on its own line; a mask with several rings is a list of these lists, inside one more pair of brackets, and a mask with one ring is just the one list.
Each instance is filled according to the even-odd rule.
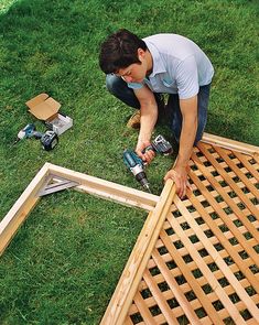
[[50,164],[50,172],[53,175],[78,182],[80,185],[75,186],[75,189],[121,203],[123,205],[153,210],[159,201],[159,196],[157,195],[89,176],[54,164]]

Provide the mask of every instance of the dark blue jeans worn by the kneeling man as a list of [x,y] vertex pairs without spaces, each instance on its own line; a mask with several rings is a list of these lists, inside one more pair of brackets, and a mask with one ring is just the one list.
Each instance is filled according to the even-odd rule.
[[[140,102],[134,95],[134,91],[128,87],[127,83],[115,75],[107,75],[106,86],[108,90],[118,99],[123,101],[126,105],[140,109]],[[203,137],[203,132],[207,122],[207,107],[209,99],[211,84],[201,86],[197,94],[198,105],[198,127],[194,144],[196,144]],[[154,93],[158,105],[161,105],[160,94]],[[180,101],[177,94],[170,94],[169,101],[166,105],[168,116],[170,116],[170,127],[174,134],[175,140],[180,141],[182,131],[182,112],[180,109]]]

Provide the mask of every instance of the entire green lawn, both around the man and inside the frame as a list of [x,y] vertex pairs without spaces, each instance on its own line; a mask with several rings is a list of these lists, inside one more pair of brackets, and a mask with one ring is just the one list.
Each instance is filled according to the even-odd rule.
[[[199,44],[216,71],[206,131],[259,145],[257,8],[241,0],[1,1],[0,215],[46,161],[140,188],[121,160],[137,140],[125,127],[131,109],[106,91],[98,68],[100,42],[119,28]],[[12,147],[29,122],[44,131],[24,105],[43,91],[73,129],[53,152],[35,140]],[[171,163],[157,158],[149,166],[154,194]],[[0,259],[0,323],[98,324],[145,215],[72,191],[43,198]]]

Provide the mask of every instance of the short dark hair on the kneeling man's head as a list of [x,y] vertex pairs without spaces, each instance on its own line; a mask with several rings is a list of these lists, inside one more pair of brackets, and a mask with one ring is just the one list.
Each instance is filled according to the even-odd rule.
[[100,47],[99,65],[101,71],[111,74],[133,63],[140,63],[138,48],[145,51],[147,45],[136,34],[125,29],[111,34]]

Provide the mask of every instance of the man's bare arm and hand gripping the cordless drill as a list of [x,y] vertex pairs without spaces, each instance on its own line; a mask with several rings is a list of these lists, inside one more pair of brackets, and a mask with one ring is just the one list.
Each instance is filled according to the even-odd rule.
[[140,102],[140,131],[136,152],[142,160],[150,163],[154,152],[150,150],[143,154],[142,151],[151,144],[152,131],[158,120],[158,105],[153,93],[147,86],[136,89],[134,94]]

